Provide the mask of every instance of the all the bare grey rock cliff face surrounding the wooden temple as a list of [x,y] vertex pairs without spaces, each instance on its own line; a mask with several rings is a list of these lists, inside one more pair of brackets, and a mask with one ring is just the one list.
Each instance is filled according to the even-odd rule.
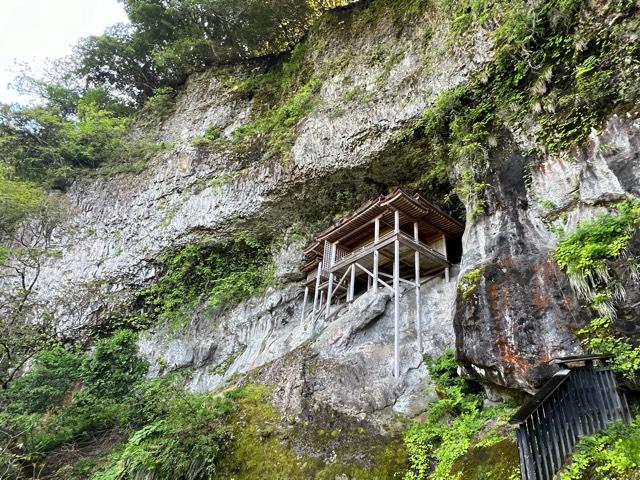
[[[491,25],[450,44],[451,22],[429,18],[431,12],[359,22],[370,8],[333,13],[305,40],[317,98],[291,127],[285,159],[233,141],[258,108],[254,97],[237,93],[269,68],[256,62],[190,78],[158,127],[170,146],[144,172],[71,186],[62,255],[42,271],[38,289],[60,305],[62,325],[107,318],[154,277],[154,260],[167,249],[249,231],[282,235],[273,286],[222,313],[196,308],[178,331],[152,327],[140,347],[153,374],[188,369],[191,389],[210,390],[252,371],[278,385],[284,412],[326,407],[384,428],[394,412],[413,416],[423,407],[428,374],[420,353],[455,345],[467,376],[532,392],[551,373],[546,361],[581,352],[575,332],[590,313],[550,258],[553,229],[570,229],[600,205],[640,195],[636,116],[611,117],[564,158],[532,158],[522,131],[500,132],[484,178],[484,213],[467,205],[461,264],[450,282],[438,279],[423,292],[424,352],[415,347],[410,320],[413,292],[403,293],[400,378],[391,376],[393,306],[384,293],[359,298],[331,322],[300,323],[306,241],[327,216],[433,168],[421,155],[398,153],[399,134],[494,55]],[[195,146],[210,127],[220,139]],[[458,272],[476,269],[477,288],[466,295],[457,288]]]

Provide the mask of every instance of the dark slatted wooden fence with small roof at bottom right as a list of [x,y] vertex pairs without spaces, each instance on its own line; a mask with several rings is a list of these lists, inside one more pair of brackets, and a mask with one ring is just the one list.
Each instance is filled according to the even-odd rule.
[[580,437],[604,430],[615,420],[630,421],[608,358],[554,360],[561,370],[511,418],[510,423],[518,425],[522,480],[551,480]]

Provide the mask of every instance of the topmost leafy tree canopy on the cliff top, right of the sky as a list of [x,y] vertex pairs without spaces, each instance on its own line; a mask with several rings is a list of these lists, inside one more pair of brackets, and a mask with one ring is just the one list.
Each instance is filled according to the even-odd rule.
[[230,61],[290,49],[319,14],[345,0],[124,0],[130,26],[77,47],[76,74],[137,103],[159,87]]

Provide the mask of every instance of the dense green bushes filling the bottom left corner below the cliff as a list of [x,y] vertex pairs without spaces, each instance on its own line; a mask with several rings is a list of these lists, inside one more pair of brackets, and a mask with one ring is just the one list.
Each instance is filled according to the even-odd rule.
[[[127,330],[96,341],[89,352],[59,346],[40,352],[0,399],[0,471],[16,479],[216,478],[218,456],[231,442],[225,423],[231,397],[190,394],[172,377],[144,379],[146,370],[136,335]],[[95,464],[49,458],[65,444],[100,445],[113,431],[128,441]]]

